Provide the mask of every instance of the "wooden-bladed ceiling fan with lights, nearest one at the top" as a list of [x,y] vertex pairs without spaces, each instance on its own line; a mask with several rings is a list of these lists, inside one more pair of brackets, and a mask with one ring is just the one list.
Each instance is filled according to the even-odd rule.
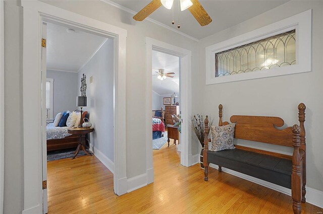
[[[136,21],[142,21],[161,5],[167,9],[172,9],[173,3],[174,0],[152,0],[146,7],[139,11],[133,19]],[[201,26],[208,25],[212,22],[211,17],[206,13],[198,0],[180,0],[180,4],[181,11],[188,9]],[[174,20],[172,21],[172,24],[174,24]]]

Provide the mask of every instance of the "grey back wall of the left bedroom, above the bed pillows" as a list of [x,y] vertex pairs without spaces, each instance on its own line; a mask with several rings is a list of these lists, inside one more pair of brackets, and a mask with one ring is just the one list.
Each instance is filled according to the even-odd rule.
[[76,106],[76,96],[80,88],[78,87],[78,74],[72,72],[59,72],[57,70],[47,70],[47,78],[54,79],[53,82],[53,117],[59,112],[66,110],[74,111]]

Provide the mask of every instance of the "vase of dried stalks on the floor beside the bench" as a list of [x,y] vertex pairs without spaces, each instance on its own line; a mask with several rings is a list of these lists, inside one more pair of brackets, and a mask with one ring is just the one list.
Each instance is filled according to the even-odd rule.
[[[203,150],[204,150],[204,119],[203,119],[203,115],[200,115],[200,114],[193,115],[191,118],[191,121],[192,121],[192,129],[193,129],[195,135],[197,136],[198,141],[200,142],[200,144],[202,146],[202,150],[201,150],[201,154],[200,154],[200,165],[201,165],[201,168],[204,169],[204,166],[203,166]],[[209,123],[208,130],[210,130],[212,124],[213,124],[213,119]]]

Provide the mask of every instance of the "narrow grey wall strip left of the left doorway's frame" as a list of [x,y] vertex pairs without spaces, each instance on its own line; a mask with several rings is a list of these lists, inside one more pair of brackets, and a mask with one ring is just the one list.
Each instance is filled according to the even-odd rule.
[[5,1],[5,178],[4,213],[24,205],[22,9]]

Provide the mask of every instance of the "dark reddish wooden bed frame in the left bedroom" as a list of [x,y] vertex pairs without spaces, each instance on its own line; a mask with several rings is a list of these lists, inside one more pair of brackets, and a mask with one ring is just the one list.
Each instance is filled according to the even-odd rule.
[[[79,112],[79,110],[75,110]],[[82,113],[82,118],[88,118],[88,112],[84,111]],[[63,150],[69,148],[77,148],[80,141],[80,136],[77,134],[72,134],[70,136],[61,139],[47,139],[46,147],[48,151]],[[85,136],[82,137],[82,142],[85,142]]]

